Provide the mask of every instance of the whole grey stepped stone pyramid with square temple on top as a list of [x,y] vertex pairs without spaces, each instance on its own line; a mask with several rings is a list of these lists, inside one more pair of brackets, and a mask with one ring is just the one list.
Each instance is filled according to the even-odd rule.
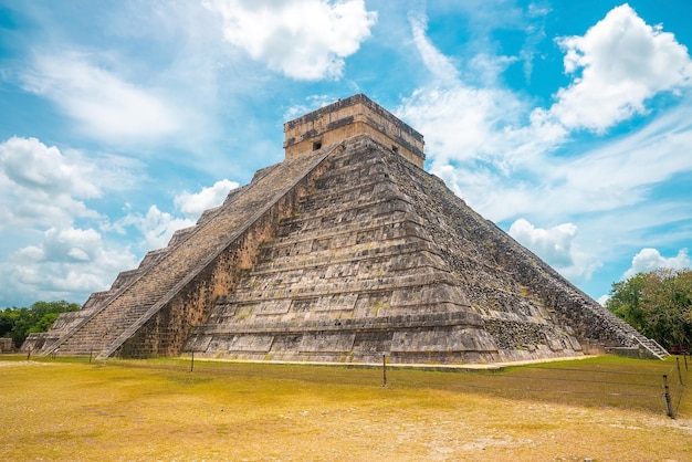
[[24,349],[427,364],[665,355],[427,174],[423,137],[365,95],[284,132],[283,162]]

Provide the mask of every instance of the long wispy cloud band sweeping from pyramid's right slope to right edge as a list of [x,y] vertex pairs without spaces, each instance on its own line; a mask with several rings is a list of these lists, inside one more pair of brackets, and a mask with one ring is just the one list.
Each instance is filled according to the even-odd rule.
[[[432,160],[430,170],[472,207],[496,221],[528,213],[534,219],[551,221],[573,213],[605,211],[610,213],[609,220],[616,219],[614,211],[641,217],[642,204],[651,199],[658,185],[692,170],[688,149],[692,145],[690,102],[689,96],[683,97],[679,107],[661,113],[641,129],[578,156],[552,156],[548,149],[541,149],[543,140],[536,135],[533,153],[523,154],[532,146],[532,141],[526,141],[514,151],[508,149],[505,157],[499,155],[495,164],[473,158],[460,162],[461,159],[440,156],[439,164]],[[639,209],[629,209],[635,204]],[[656,227],[668,222],[671,216],[679,220],[692,216],[684,202],[673,209],[653,213],[647,222]],[[641,225],[641,218],[638,221]]]

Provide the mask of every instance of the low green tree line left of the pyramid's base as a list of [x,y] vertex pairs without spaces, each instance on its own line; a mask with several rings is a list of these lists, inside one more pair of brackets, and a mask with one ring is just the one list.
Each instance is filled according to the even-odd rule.
[[76,312],[80,305],[64,300],[35,302],[30,307],[8,307],[0,312],[0,337],[10,337],[20,348],[29,334],[46,332],[61,313]]

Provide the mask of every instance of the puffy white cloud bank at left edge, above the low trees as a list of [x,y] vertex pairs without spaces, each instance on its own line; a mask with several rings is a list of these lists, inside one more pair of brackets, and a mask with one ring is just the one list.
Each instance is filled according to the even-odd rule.
[[132,267],[135,259],[127,248],[105,242],[95,229],[74,225],[77,220],[102,220],[85,201],[130,181],[128,167],[113,156],[85,159],[78,151],[49,147],[35,138],[1,143],[0,304],[76,302],[106,288],[113,274]]

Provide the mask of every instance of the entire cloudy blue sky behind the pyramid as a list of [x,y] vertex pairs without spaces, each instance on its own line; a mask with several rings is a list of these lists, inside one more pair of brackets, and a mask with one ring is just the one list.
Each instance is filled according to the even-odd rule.
[[[0,307],[83,303],[366,93],[596,300],[692,246],[692,2],[0,0]],[[602,300],[602,298],[601,298]]]

